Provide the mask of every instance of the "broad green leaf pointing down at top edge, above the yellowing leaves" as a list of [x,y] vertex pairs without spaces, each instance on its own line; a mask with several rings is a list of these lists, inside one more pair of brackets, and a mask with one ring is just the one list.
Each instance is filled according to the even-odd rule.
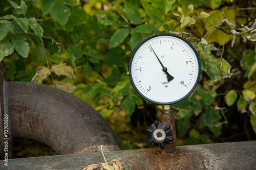
[[52,17],[55,18],[62,26],[67,23],[69,16],[71,15],[69,7],[58,1],[52,6],[51,12]]

